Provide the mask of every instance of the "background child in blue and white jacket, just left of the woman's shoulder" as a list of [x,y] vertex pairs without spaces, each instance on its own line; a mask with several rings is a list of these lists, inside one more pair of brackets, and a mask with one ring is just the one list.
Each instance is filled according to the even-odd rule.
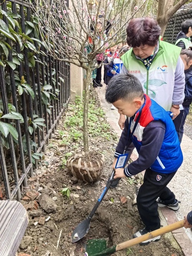
[[[117,75],[120,73],[123,65],[121,56],[128,51],[127,47],[121,47],[119,52],[118,51],[115,52],[116,48],[117,48],[116,46],[110,48],[110,53],[107,55],[107,59],[105,61],[105,63],[109,63],[109,64],[104,65],[104,68],[106,69],[106,77],[108,82],[111,80],[111,78],[114,75]],[[108,87],[108,84],[106,84],[106,90],[107,90],[107,87]],[[114,110],[116,109],[116,107],[112,105],[111,109]]]

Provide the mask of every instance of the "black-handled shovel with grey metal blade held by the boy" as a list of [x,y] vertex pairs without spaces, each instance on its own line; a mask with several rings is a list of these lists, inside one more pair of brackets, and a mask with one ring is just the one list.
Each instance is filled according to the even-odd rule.
[[84,219],[84,221],[82,221],[81,223],[79,223],[79,225],[74,229],[71,238],[72,238],[72,243],[76,243],[77,241],[79,241],[80,239],[82,239],[89,231],[90,228],[90,222],[91,219],[93,218],[93,215],[95,214],[96,210],[99,207],[99,204],[102,202],[104,196],[106,195],[106,193],[108,192],[111,184],[113,183],[113,181],[116,180],[120,180],[120,178],[118,179],[114,179],[114,174],[115,171],[113,170],[111,173],[111,177],[109,178],[106,187],[104,188],[103,192],[101,193],[101,196],[99,197],[97,203],[95,204],[95,206],[93,207],[91,213],[89,214],[89,216]]

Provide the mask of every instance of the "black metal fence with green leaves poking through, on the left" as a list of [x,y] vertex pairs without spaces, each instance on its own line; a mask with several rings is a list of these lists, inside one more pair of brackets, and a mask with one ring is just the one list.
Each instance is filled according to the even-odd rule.
[[0,199],[21,199],[70,100],[70,65],[48,55],[30,5],[0,8]]

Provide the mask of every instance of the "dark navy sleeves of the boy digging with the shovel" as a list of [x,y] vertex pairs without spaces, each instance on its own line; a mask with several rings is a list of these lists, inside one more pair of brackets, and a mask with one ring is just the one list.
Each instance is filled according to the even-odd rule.
[[[122,131],[121,137],[119,139],[118,146],[116,147],[116,152],[114,157],[118,158],[125,149],[127,141],[127,129],[129,121],[128,118],[124,124],[124,130]],[[159,151],[162,146],[165,135],[165,124],[162,121],[152,121],[149,123],[143,131],[142,146],[139,150],[139,157],[136,161],[130,163],[126,168],[124,168],[124,174],[127,177],[131,177],[140,173],[141,171],[149,168],[154,161],[156,161]],[[127,146],[131,144],[132,140],[130,134],[128,136]]]

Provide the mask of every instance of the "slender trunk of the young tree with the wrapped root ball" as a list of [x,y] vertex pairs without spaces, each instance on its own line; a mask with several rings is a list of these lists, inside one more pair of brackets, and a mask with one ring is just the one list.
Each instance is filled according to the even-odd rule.
[[88,143],[88,108],[89,108],[89,85],[91,79],[91,64],[89,63],[88,69],[86,70],[85,90],[84,90],[84,104],[83,104],[83,146],[84,153],[89,153]]

